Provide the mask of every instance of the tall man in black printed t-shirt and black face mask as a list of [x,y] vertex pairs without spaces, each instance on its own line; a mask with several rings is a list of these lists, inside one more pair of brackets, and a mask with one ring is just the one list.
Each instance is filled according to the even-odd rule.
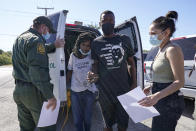
[[[99,76],[96,84],[100,92],[99,102],[106,124],[104,130],[112,131],[112,126],[117,123],[118,131],[126,131],[129,116],[117,96],[136,87],[136,67],[130,38],[115,34],[114,25],[113,12],[104,11],[100,17],[100,26],[104,35],[96,38],[91,44],[94,64],[88,79],[90,82],[95,82]],[[128,68],[128,65],[131,65],[131,68]],[[131,85],[129,75],[132,78]]]

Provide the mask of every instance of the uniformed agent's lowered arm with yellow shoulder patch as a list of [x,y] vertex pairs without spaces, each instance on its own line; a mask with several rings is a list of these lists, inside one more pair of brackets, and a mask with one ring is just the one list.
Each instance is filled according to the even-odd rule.
[[[42,42],[42,41],[41,41]],[[48,57],[44,44],[39,40],[27,47],[27,63],[29,77],[35,87],[48,100],[47,108],[56,108],[56,98],[53,95],[53,85],[50,83]]]

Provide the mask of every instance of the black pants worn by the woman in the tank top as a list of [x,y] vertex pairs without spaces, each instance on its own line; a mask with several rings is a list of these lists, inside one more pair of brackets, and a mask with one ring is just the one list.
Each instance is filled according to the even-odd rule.
[[[171,83],[153,83],[152,93],[156,93]],[[160,115],[152,120],[152,131],[175,131],[180,116],[183,113],[185,104],[184,96],[178,95],[180,91],[161,99],[154,107]]]

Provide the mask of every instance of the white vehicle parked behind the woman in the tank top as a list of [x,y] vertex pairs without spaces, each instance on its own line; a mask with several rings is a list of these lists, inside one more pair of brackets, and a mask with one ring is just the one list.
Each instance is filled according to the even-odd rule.
[[[178,37],[171,40],[172,43],[177,44],[181,47],[184,54],[184,78],[185,84],[184,87],[180,90],[183,92],[184,96],[195,98],[196,96],[196,71],[192,72],[192,75],[189,77],[189,73],[194,65],[194,55],[196,52],[196,35],[189,35],[184,37]],[[154,57],[158,52],[158,47],[152,48],[146,59],[144,61],[144,77],[145,83],[151,83],[150,76],[150,67]],[[178,58],[176,58],[178,59]]]

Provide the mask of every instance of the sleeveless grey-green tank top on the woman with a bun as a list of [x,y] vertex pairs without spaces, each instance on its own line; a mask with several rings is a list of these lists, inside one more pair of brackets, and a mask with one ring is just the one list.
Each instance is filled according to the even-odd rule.
[[174,81],[173,72],[166,57],[167,48],[174,46],[169,43],[163,49],[159,50],[154,62],[152,63],[152,81],[157,83],[170,83]]

